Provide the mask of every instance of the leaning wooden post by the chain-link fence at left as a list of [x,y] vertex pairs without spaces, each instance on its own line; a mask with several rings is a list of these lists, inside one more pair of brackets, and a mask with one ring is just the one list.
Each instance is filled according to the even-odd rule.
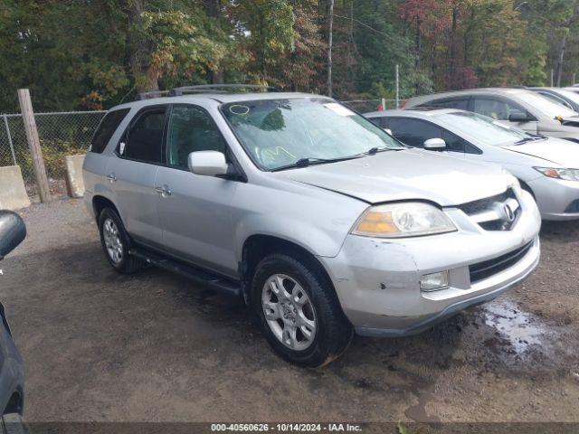
[[33,103],[30,99],[30,92],[27,89],[18,90],[18,101],[20,102],[20,111],[26,131],[26,139],[30,154],[33,157],[34,175],[38,185],[38,195],[40,202],[45,203],[51,200],[51,192],[48,187],[48,177],[46,176],[46,167],[44,167],[43,150],[40,147],[36,121],[34,120]]

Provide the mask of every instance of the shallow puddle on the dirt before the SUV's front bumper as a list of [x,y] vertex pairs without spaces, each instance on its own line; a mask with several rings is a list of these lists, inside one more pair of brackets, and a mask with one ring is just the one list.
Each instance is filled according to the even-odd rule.
[[483,312],[485,324],[496,328],[518,354],[524,353],[529,345],[541,344],[546,335],[545,325],[510,301],[489,303]]

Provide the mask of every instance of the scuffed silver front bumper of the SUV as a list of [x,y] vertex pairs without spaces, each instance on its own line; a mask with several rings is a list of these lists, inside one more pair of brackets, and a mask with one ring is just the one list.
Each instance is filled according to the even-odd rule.
[[[510,231],[484,231],[458,209],[458,231],[404,240],[350,235],[335,258],[319,258],[359,335],[414,335],[512,288],[537,266],[540,215],[531,196]],[[488,269],[476,274],[474,269]],[[424,275],[448,271],[449,285],[421,290]]]

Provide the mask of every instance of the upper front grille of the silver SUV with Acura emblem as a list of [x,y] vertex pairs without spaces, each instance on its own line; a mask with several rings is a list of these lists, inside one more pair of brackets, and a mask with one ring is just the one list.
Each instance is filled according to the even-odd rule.
[[485,231],[509,231],[521,213],[520,203],[512,188],[505,193],[463,203],[459,209]]

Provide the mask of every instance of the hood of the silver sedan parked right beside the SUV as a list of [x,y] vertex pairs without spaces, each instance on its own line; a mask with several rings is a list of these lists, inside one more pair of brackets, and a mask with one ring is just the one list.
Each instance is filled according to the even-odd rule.
[[504,149],[527,156],[536,156],[561,167],[579,168],[579,144],[562,138],[551,137],[524,145],[505,146]]

